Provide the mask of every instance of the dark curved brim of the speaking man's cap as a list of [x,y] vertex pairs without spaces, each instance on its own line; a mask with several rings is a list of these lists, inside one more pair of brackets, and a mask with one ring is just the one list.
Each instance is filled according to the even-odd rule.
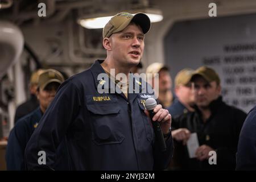
[[133,16],[132,21],[139,24],[141,26],[143,34],[147,34],[150,30],[151,22],[150,18],[144,13],[137,13]]

